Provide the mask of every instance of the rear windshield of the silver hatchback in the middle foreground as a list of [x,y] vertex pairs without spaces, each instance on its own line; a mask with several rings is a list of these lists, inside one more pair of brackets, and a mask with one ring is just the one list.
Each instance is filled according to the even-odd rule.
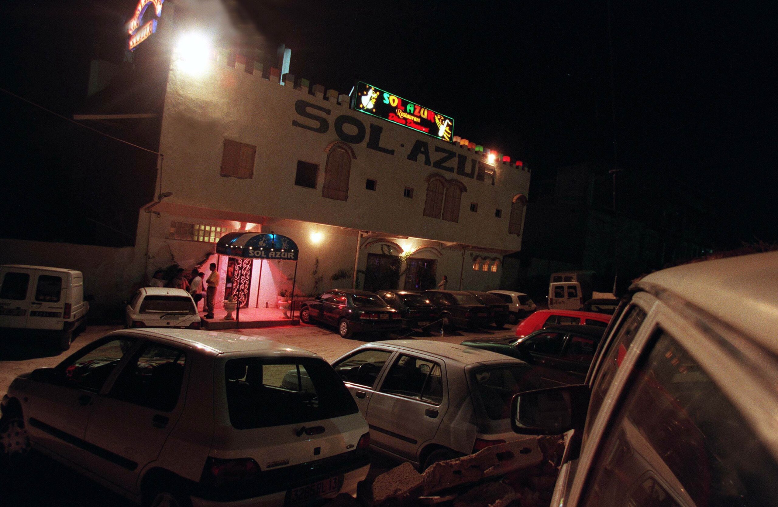
[[492,421],[510,418],[513,395],[541,387],[529,378],[531,369],[531,365],[519,364],[482,368],[471,374],[486,417]]

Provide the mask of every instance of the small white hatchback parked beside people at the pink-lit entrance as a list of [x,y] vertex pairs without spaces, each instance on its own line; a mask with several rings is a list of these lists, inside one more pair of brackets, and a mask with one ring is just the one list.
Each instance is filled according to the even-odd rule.
[[143,287],[124,309],[127,327],[200,329],[195,299],[183,288]]

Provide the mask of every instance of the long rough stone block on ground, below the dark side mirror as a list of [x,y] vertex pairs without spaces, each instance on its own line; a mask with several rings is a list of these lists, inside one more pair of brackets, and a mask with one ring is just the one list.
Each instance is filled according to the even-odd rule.
[[433,464],[424,472],[424,495],[481,481],[486,477],[508,474],[525,467],[534,467],[545,459],[541,450],[552,447],[545,439],[559,437],[532,436],[515,442],[489,446],[478,453]]

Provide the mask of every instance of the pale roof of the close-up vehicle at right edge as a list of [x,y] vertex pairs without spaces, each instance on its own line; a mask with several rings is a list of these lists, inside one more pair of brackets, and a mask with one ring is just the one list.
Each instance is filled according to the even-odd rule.
[[668,291],[778,353],[778,251],[706,260],[649,274],[634,288]]

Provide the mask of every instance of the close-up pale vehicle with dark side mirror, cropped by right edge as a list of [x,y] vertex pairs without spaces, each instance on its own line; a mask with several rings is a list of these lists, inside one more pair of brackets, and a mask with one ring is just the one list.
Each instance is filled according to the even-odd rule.
[[778,499],[778,252],[630,288],[580,386],[520,393],[514,428],[573,432],[551,505]]

